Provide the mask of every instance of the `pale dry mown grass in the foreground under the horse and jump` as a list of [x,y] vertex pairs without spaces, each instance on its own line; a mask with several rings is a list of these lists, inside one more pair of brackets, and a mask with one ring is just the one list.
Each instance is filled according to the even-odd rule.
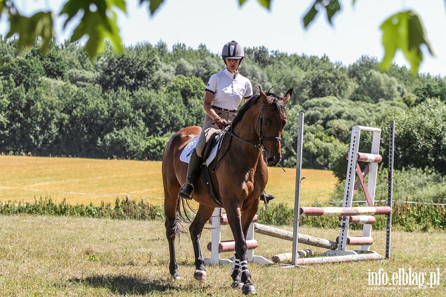
[[[0,216],[0,296],[241,296],[230,289],[230,268],[208,267],[208,282],[193,279],[193,251],[186,234],[177,242],[182,279],[170,280],[168,248],[161,221],[54,216]],[[290,230],[290,227],[287,228]],[[337,230],[300,228],[334,239]],[[210,240],[205,230],[202,245]],[[222,239],[230,237],[223,228]],[[374,250],[384,252],[385,232],[374,232]],[[256,234],[256,254],[271,258],[291,242]],[[445,296],[446,233],[393,232],[389,261],[322,264],[296,269],[250,264],[259,296]],[[301,248],[308,246],[300,245]],[[314,253],[323,251],[312,248]],[[205,256],[210,252],[205,250]],[[230,253],[223,253],[230,257]],[[369,286],[369,269],[441,272],[440,286]]]

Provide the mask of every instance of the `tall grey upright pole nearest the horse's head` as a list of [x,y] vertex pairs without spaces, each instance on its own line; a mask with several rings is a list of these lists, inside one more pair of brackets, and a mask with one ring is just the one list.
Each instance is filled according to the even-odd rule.
[[297,149],[296,149],[296,189],[294,193],[294,221],[293,221],[293,249],[291,254],[291,264],[296,265],[296,260],[299,257],[297,251],[298,237],[299,237],[299,216],[300,216],[300,182],[302,175],[302,138],[304,126],[303,112],[299,113],[299,122],[297,126]]

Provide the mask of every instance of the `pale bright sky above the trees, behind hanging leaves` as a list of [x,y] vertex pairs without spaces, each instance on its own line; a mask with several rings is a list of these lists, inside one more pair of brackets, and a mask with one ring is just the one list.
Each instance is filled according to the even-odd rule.
[[[126,0],[127,14],[118,14],[122,42],[135,45],[163,41],[171,49],[183,43],[192,49],[205,44],[214,53],[221,53],[226,42],[235,40],[244,47],[264,46],[288,54],[329,57],[348,66],[362,55],[381,60],[380,25],[397,12],[412,9],[418,13],[425,27],[425,34],[433,49],[432,56],[423,48],[424,60],[421,73],[446,76],[446,1],[445,0],[339,0],[341,11],[327,21],[325,13],[319,13],[308,29],[302,18],[314,0],[273,0],[271,9],[261,6],[257,0],[247,0],[241,7],[238,0],[164,0],[151,16],[148,4],[139,0]],[[64,0],[16,0],[23,14],[31,14],[37,8],[58,13]],[[0,34],[7,32],[5,16],[0,19]],[[56,23],[58,42],[67,39],[69,31],[61,30],[62,20]],[[406,65],[403,55],[394,59],[398,65]]]

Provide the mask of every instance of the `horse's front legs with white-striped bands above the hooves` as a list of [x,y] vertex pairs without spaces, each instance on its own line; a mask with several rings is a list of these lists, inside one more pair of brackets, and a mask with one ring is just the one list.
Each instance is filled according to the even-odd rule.
[[241,287],[243,295],[247,294],[256,294],[256,288],[251,281],[251,273],[248,270],[248,261],[246,260],[246,251],[247,245],[245,236],[243,235],[243,229],[240,220],[240,208],[236,208],[233,210],[226,209],[227,220],[229,222],[229,226],[231,227],[232,235],[234,236],[235,241],[235,258],[239,259],[239,270],[240,270],[240,278],[238,280],[238,272],[234,268],[231,273],[231,277],[233,280],[232,286]]

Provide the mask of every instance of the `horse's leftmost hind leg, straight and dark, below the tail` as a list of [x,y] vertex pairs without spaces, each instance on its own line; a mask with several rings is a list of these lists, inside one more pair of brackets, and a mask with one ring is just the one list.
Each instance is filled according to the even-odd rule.
[[176,263],[176,257],[175,257],[175,238],[177,235],[179,235],[179,229],[177,226],[176,221],[176,208],[178,204],[178,196],[177,193],[179,191],[179,185],[178,189],[176,187],[173,187],[175,189],[171,189],[170,193],[174,194],[168,194],[168,191],[165,189],[165,202],[164,202],[164,210],[166,213],[166,237],[167,242],[169,244],[169,256],[170,256],[170,262],[169,262],[169,271],[170,275],[174,280],[179,280],[180,275],[178,273],[178,265]]

